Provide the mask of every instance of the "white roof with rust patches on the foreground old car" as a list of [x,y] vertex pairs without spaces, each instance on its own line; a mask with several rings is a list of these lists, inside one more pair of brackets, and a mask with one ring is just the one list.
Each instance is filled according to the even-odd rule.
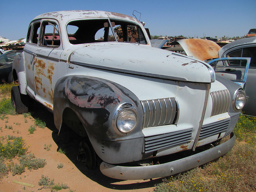
[[106,11],[94,11],[94,10],[68,10],[68,11],[57,11],[57,12],[49,12],[38,15],[34,18],[34,20],[42,19],[42,18],[50,18],[56,19],[58,21],[69,22],[74,19],[81,19],[81,18],[116,18],[116,19],[124,19],[130,21],[138,20],[134,17],[114,13],[114,12],[106,12]]

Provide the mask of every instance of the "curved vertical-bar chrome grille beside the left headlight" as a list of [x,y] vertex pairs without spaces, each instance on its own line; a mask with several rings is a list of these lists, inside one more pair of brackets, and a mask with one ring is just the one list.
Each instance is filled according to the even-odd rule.
[[175,98],[140,101],[144,113],[143,128],[174,124],[178,119],[178,103]]

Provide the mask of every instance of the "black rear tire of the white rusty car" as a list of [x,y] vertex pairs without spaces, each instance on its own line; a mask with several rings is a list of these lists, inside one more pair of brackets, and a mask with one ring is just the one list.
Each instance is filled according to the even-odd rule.
[[12,87],[11,100],[17,114],[28,113],[29,96],[20,94],[19,86]]

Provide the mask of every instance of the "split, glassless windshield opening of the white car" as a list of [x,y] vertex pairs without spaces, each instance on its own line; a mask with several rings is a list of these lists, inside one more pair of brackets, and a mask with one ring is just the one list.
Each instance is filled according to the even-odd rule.
[[[114,29],[114,33],[112,31]],[[108,19],[72,21],[67,25],[68,40],[71,44],[95,42],[135,42],[146,44],[139,26]]]

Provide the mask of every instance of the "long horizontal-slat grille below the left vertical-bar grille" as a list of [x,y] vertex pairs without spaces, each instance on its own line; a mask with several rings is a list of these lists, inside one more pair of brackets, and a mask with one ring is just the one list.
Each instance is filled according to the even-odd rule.
[[193,129],[190,128],[186,130],[145,137],[144,152],[149,153],[156,150],[188,143],[192,138],[192,130]]

